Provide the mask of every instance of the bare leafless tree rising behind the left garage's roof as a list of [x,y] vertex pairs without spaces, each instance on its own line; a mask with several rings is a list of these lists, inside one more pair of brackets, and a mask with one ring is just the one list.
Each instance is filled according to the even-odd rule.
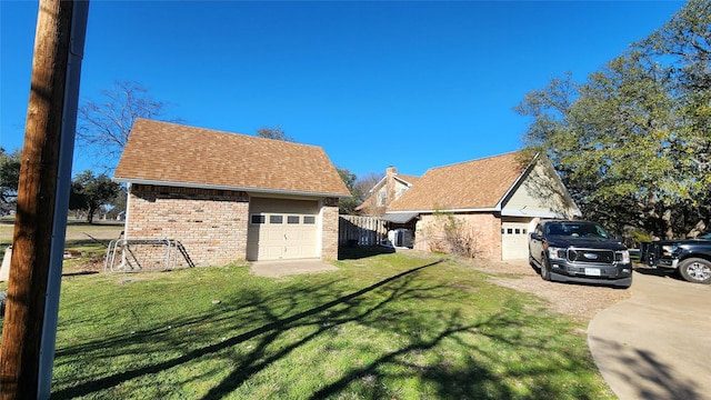
[[166,113],[167,103],[153,100],[148,90],[134,81],[114,81],[111,90],[101,91],[103,101],[82,101],[77,116],[78,144],[116,168],[138,118],[154,119]]

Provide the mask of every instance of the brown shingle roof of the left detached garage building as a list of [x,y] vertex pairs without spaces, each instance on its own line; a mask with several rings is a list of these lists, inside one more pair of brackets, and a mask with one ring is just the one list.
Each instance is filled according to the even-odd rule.
[[350,192],[320,147],[138,119],[117,181],[313,193]]

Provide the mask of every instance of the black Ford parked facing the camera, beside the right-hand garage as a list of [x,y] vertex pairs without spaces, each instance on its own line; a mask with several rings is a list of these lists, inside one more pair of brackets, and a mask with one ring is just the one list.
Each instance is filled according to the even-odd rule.
[[543,220],[529,237],[529,262],[544,280],[632,284],[630,252],[591,221]]

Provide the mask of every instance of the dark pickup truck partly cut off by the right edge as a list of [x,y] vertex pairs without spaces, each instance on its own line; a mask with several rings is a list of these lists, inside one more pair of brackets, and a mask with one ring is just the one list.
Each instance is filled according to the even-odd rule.
[[675,270],[689,282],[711,283],[711,233],[644,243],[640,258],[652,268]]

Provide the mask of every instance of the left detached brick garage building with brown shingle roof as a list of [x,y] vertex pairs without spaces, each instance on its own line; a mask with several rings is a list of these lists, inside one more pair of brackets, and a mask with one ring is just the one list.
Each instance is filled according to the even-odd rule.
[[114,180],[128,183],[126,239],[173,239],[197,266],[338,258],[350,197],[314,146],[139,119]]

